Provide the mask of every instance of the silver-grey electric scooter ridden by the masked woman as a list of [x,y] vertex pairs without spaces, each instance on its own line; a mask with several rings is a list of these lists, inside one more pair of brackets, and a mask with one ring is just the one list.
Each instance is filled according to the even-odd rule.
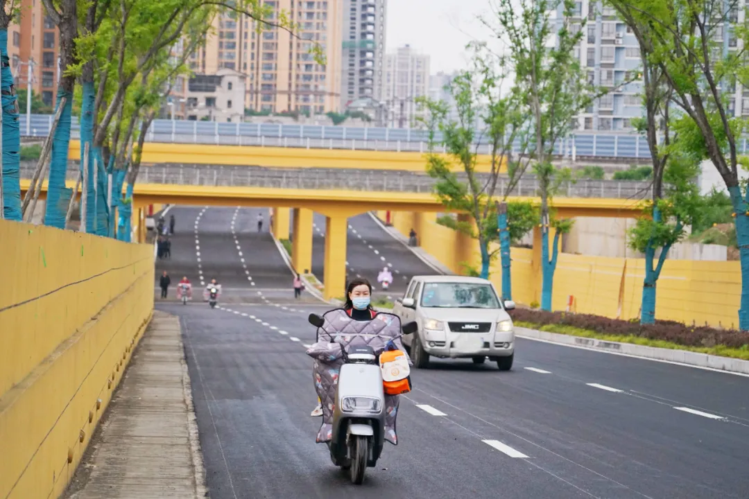
[[[324,319],[314,313],[309,323],[322,328]],[[416,322],[403,326],[403,334],[416,332]],[[328,442],[333,465],[349,470],[351,482],[361,484],[366,468],[374,468],[385,443],[385,394],[382,370],[371,346],[342,348],[344,364],[336,385],[333,438]]]

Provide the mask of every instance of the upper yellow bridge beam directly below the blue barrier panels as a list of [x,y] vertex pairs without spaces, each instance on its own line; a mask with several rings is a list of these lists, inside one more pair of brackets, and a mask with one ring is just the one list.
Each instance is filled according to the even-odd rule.
[[[68,155],[79,160],[79,141],[70,141]],[[306,149],[303,147],[217,146],[146,142],[143,163],[187,165],[255,165],[280,168],[361,168],[363,170],[425,171],[422,153],[397,151]],[[491,171],[491,156],[478,156],[476,171]],[[503,165],[502,171],[506,171]]]

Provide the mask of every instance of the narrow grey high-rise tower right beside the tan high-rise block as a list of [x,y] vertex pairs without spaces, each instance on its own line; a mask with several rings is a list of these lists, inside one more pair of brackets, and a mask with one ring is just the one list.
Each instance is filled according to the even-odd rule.
[[382,100],[387,0],[343,0],[342,108]]

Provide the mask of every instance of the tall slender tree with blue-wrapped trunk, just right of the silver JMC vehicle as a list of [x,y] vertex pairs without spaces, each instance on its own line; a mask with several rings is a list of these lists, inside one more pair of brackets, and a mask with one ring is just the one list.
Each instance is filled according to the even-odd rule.
[[[570,221],[555,220],[551,200],[568,178],[551,163],[554,144],[571,130],[574,117],[595,99],[586,84],[574,46],[583,35],[584,21],[575,26],[572,0],[498,0],[498,25],[485,20],[507,45],[508,58],[515,70],[515,85],[527,93],[527,106],[533,120],[533,172],[539,180],[542,235],[542,309],[551,310],[554,271],[557,268],[560,234],[571,228]],[[552,25],[550,13],[557,12]],[[579,28],[579,29],[577,29]],[[554,247],[549,249],[549,230],[554,227]]]

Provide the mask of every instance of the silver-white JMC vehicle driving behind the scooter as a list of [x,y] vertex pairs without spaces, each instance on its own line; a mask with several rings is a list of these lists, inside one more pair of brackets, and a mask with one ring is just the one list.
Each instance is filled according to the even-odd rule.
[[417,275],[404,297],[395,300],[393,313],[403,324],[419,325],[403,337],[416,367],[427,367],[431,355],[473,358],[474,364],[488,357],[507,371],[515,356],[515,330],[507,310],[514,308],[512,301],[500,302],[486,279]]

